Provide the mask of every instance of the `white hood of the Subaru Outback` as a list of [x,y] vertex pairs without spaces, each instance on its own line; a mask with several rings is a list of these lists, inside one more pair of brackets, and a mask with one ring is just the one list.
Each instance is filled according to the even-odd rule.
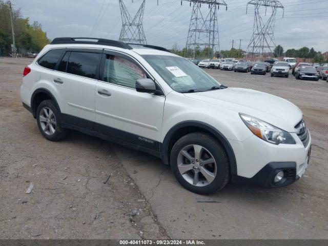
[[288,132],[295,132],[295,126],[303,117],[301,110],[290,101],[255,90],[227,88],[188,93],[185,96],[203,101],[213,107],[223,107],[236,113],[248,114]]

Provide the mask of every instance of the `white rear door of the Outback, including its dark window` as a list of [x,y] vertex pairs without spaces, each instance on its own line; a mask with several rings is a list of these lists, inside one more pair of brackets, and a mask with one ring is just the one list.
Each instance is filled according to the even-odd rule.
[[63,121],[92,129],[95,87],[102,50],[67,49],[50,75],[61,100]]

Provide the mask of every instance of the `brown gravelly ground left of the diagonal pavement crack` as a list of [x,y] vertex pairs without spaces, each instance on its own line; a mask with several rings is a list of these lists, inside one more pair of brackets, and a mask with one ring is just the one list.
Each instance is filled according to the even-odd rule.
[[30,62],[0,58],[0,238],[168,238],[112,144],[39,133],[19,99]]

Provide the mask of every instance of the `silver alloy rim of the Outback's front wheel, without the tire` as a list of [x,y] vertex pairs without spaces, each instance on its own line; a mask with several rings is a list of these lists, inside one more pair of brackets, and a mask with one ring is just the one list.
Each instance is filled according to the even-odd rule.
[[181,176],[196,187],[208,186],[216,177],[216,162],[206,148],[188,145],[178,155],[178,170]]

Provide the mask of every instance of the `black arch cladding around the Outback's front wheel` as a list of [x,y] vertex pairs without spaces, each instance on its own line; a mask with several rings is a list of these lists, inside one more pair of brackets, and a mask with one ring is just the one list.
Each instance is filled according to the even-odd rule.
[[232,175],[237,175],[237,163],[234,151],[226,137],[209,124],[200,121],[183,121],[172,127],[166,134],[161,145],[162,159],[166,164],[170,163],[170,152],[175,142],[182,136],[192,132],[207,132],[214,136],[226,150],[229,158],[230,169]]

